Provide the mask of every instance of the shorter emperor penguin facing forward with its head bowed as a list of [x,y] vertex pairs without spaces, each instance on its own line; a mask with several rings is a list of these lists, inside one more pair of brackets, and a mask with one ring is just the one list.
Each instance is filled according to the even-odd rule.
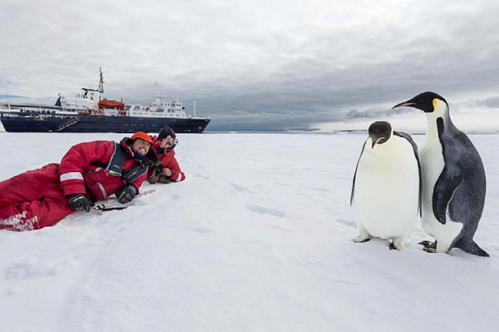
[[352,204],[356,242],[377,237],[392,240],[390,249],[403,248],[420,211],[418,148],[409,135],[393,131],[386,121],[369,126],[353,179]]

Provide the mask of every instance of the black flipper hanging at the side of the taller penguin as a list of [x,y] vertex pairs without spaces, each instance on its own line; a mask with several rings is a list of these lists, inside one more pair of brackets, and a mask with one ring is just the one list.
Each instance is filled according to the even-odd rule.
[[454,190],[461,184],[463,180],[462,168],[460,165],[448,167],[447,163],[440,175],[436,180],[433,189],[433,214],[441,224],[445,225],[445,213],[449,202],[452,198]]

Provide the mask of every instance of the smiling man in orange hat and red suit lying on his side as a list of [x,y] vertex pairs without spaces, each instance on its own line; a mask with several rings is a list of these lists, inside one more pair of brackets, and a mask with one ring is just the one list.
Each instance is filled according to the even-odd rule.
[[75,210],[90,212],[94,202],[112,194],[122,204],[131,202],[147,177],[147,164],[158,160],[151,144],[141,131],[120,143],[80,143],[60,164],[0,182],[0,229],[50,226]]

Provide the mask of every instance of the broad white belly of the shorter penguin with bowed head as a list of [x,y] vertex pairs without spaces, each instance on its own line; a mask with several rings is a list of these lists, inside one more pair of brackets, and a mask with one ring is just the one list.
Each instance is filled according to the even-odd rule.
[[355,180],[357,223],[382,239],[407,238],[418,215],[419,171],[413,148],[405,139],[392,140],[396,142],[390,148],[375,146],[376,154],[366,144]]

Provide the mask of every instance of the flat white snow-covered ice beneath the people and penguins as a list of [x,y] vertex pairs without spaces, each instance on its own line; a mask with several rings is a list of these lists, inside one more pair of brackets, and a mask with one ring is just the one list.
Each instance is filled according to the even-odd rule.
[[[0,132],[0,180],[120,134]],[[491,257],[354,243],[364,135],[179,134],[187,179],[101,216],[0,231],[0,331],[478,331],[497,328],[499,156],[471,135]],[[417,143],[422,136],[414,136]],[[495,326],[495,327],[494,327]]]

